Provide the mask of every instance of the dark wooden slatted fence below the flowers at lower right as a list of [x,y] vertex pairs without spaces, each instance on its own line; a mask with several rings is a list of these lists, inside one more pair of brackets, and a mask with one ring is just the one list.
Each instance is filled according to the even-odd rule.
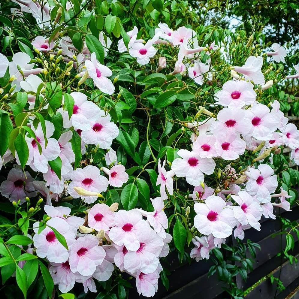
[[[292,212],[280,211],[283,217],[291,221],[299,221],[299,207],[294,207]],[[276,214],[279,213],[276,208]],[[253,271],[249,273],[246,282],[237,276],[236,282],[239,288],[246,290],[256,284],[255,288],[249,292],[246,299],[299,299],[299,262],[297,265],[291,265],[283,257],[277,254],[285,248],[285,237],[278,235],[272,237],[273,233],[281,230],[279,219],[262,219],[261,231],[251,228],[245,231],[244,240],[250,239],[260,244],[261,251],[257,250],[257,256],[253,265]],[[227,243],[235,242],[232,238],[227,239]],[[299,246],[296,239],[295,248],[292,252],[299,259]],[[207,277],[208,270],[213,265],[212,261],[192,261],[191,265],[180,265],[177,255],[170,255],[171,275],[168,276],[170,286],[166,291],[161,282],[159,282],[158,292],[154,299],[221,299],[229,298],[229,295],[223,290],[223,283],[217,279],[217,274],[210,278]],[[271,283],[270,278],[262,279],[272,273],[285,286],[282,292],[276,292],[276,283]],[[257,283],[260,279],[262,281]],[[129,295],[130,299],[143,298],[139,296],[136,290],[132,289]]]

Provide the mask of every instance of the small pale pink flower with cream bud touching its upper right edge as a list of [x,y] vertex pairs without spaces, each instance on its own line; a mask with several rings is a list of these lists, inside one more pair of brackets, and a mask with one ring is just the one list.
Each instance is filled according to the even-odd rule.
[[106,204],[95,204],[88,213],[88,226],[96,231],[109,231],[114,226],[114,213]]

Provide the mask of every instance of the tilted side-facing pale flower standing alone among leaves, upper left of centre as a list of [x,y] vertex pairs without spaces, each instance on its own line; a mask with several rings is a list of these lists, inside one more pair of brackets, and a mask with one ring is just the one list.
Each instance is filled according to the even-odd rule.
[[107,66],[102,65],[97,61],[95,53],[90,55],[90,60],[85,60],[85,66],[88,71],[89,77],[93,80],[95,86],[101,90],[101,92],[112,95],[114,92],[114,85],[107,77],[112,76],[112,71]]

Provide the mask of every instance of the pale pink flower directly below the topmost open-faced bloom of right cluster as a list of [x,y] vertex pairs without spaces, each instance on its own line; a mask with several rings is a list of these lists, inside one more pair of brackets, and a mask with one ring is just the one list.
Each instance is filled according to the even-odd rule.
[[235,132],[243,135],[248,134],[252,124],[246,117],[244,110],[240,108],[223,108],[217,114],[216,122],[211,125],[211,132],[216,136],[219,132]]

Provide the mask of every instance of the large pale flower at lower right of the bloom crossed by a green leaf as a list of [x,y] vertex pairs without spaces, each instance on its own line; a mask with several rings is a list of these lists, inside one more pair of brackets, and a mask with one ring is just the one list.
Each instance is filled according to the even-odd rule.
[[83,276],[92,275],[100,265],[106,252],[99,246],[99,240],[93,235],[79,237],[70,249],[69,264],[72,272]]

